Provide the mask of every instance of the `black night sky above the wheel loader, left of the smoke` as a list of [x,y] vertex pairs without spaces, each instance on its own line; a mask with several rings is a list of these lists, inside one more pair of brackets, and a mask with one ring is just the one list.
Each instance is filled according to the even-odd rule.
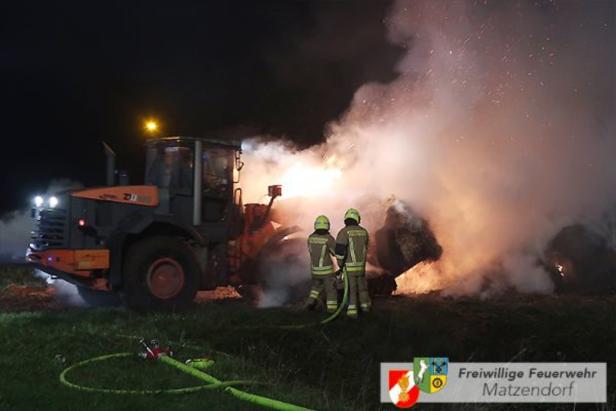
[[2,2],[0,213],[52,179],[132,182],[143,120],[163,134],[318,143],[369,81],[395,78],[385,1]]

